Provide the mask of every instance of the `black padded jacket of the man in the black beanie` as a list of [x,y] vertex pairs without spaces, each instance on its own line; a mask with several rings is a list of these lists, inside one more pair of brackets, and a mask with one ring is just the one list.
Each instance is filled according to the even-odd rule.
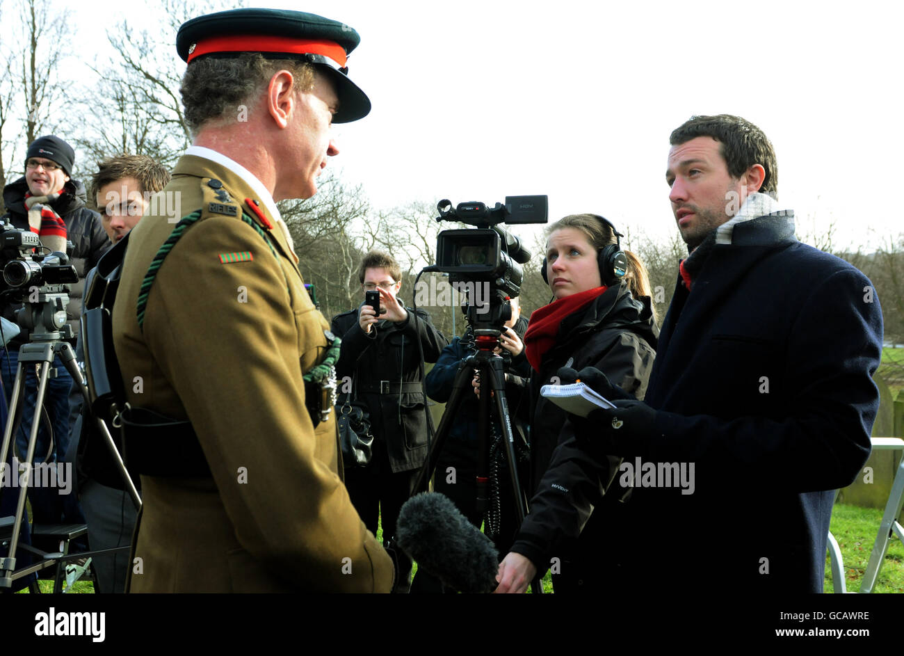
[[[6,185],[3,191],[6,204],[6,214],[3,218],[20,230],[29,229],[28,210],[25,208],[27,193],[28,184],[24,176]],[[56,203],[51,205],[53,211],[60,215],[63,223],[66,223],[66,238],[73,246],[71,263],[79,273],[79,281],[70,285],[70,302],[66,307],[66,318],[72,327],[73,336],[79,334],[81,299],[85,295],[85,275],[97,265],[100,256],[112,245],[100,221],[100,214],[90,210],[86,202],[85,185],[79,180],[70,180],[63,186],[62,194]],[[3,316],[14,321],[15,310],[21,307],[21,303],[4,302]],[[23,330],[12,340],[11,348],[17,349],[27,341],[28,331]],[[71,343],[75,344],[75,338]]]

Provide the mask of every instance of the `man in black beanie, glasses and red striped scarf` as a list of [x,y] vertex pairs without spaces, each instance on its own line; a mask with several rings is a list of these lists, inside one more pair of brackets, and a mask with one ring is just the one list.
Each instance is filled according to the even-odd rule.
[[[71,179],[74,160],[72,147],[61,138],[53,135],[37,138],[26,151],[25,175],[6,185],[3,192],[6,205],[4,221],[20,230],[31,229],[38,233],[42,244],[51,251],[65,252],[67,239],[73,244],[71,263],[79,273],[79,282],[71,285],[71,300],[66,309],[67,321],[73,332],[73,347],[74,336],[79,330],[85,272],[98,263],[110,245],[100,215],[85,206],[84,185]],[[11,302],[8,297],[0,301],[3,317],[11,321],[15,321],[15,310],[20,307],[21,303]],[[28,330],[22,328],[6,345],[5,357],[0,358],[7,403],[13,390],[19,347],[28,341]],[[57,376],[48,379],[44,398],[44,407],[51,418],[52,436],[42,425],[34,450],[35,462],[62,461],[69,444],[69,388],[72,378],[59,357],[54,366]],[[36,390],[37,379],[31,370],[25,382],[22,423],[14,442],[14,454],[19,461],[24,461],[27,454]],[[67,523],[84,522],[75,495],[60,494],[60,491],[50,488],[29,490],[35,523],[58,523],[62,520]]]

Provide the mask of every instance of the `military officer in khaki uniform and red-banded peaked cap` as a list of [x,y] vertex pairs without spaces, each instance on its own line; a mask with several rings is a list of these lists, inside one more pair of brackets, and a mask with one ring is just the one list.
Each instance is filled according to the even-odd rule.
[[176,36],[193,146],[132,231],[113,310],[144,498],[131,592],[391,590],[391,557],[340,478],[330,401],[303,380],[337,349],[275,204],[314,195],[338,154],[331,123],[370,110],[347,77],[358,42],[269,9]]

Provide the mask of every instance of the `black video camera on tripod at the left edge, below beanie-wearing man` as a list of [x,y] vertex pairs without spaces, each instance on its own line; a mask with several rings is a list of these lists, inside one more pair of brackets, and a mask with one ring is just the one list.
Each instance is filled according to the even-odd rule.
[[[67,244],[71,248],[71,242]],[[41,238],[31,230],[0,223],[3,293],[10,301],[25,304],[16,310],[15,321],[34,338],[69,339],[73,337],[66,323],[69,285],[79,281],[79,274],[66,253],[44,253],[42,248]]]

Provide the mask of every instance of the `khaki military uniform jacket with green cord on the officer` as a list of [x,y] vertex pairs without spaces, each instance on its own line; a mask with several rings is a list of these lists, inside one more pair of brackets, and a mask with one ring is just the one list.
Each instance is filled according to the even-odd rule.
[[173,174],[162,194],[201,218],[160,266],[143,328],[139,287],[174,223],[161,209],[132,231],[114,344],[129,403],[191,421],[212,479],[141,477],[130,591],[389,592],[391,558],[339,476],[334,416],[315,429],[306,411],[327,324],[284,234],[228,168],[184,156]]

